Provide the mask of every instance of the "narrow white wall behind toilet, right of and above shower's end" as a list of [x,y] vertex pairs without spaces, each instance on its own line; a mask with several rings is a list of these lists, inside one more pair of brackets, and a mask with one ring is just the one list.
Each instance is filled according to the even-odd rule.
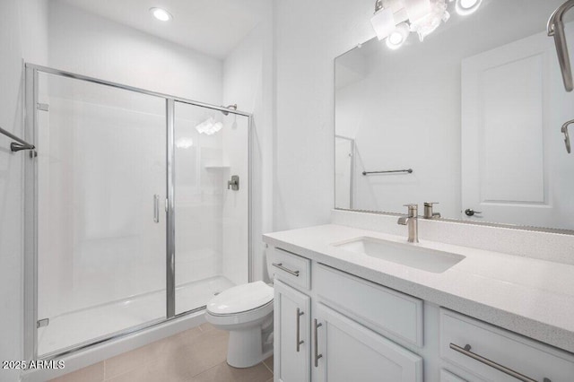
[[[261,235],[273,230],[273,4],[265,4],[264,20],[225,59],[223,104],[253,113],[252,214],[253,278],[265,278]],[[229,238],[224,229],[224,240]],[[232,241],[226,244],[233,247]],[[224,270],[233,269],[237,254],[224,257]]]

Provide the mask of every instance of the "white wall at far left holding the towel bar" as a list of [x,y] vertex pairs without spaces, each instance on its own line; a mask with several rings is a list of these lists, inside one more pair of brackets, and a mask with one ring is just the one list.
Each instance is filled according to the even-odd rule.
[[[39,0],[6,0],[0,13],[0,126],[19,136],[23,133],[22,58],[46,64],[45,7],[45,2]],[[28,13],[30,9],[36,12]],[[10,142],[0,136],[0,360],[22,360],[25,153],[10,152]],[[12,382],[18,375],[18,370],[0,369],[0,381]]]

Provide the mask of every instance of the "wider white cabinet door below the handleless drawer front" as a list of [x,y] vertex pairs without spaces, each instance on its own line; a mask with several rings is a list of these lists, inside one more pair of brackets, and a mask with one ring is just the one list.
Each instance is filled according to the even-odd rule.
[[317,304],[312,323],[313,379],[321,382],[422,382],[422,358]]

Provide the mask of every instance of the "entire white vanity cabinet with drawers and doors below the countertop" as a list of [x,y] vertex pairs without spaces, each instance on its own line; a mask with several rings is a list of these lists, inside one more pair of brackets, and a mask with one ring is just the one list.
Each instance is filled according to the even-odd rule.
[[570,352],[280,248],[273,256],[275,381],[574,382]]

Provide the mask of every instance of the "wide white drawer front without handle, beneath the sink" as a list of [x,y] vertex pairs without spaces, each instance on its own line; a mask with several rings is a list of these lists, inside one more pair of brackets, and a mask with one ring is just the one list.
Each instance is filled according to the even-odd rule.
[[320,300],[362,325],[422,347],[422,300],[318,264],[313,289]]

